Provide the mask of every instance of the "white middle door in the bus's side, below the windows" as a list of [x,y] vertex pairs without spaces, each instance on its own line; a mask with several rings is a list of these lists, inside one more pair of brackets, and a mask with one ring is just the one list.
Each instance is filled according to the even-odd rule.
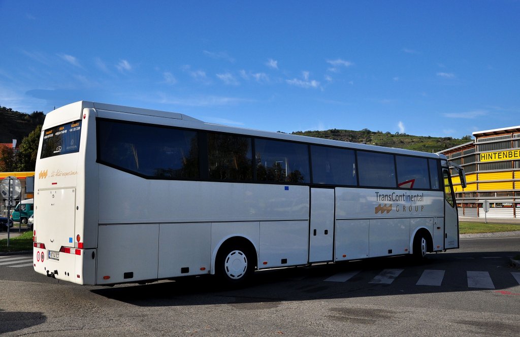
[[310,189],[309,262],[332,261],[334,193],[333,188]]

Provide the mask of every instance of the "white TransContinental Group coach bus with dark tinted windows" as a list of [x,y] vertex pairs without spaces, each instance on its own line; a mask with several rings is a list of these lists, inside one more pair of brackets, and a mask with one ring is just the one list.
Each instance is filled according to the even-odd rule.
[[449,169],[435,153],[75,102],[45,118],[34,270],[79,284],[241,283],[268,268],[422,258],[459,247]]

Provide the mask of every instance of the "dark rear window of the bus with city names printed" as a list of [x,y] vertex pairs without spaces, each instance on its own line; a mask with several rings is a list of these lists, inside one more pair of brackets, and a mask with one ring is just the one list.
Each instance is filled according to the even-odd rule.
[[81,120],[46,129],[41,159],[80,151]]

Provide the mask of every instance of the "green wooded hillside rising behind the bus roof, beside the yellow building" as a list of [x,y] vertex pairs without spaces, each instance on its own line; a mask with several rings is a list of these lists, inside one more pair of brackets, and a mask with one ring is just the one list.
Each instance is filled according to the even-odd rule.
[[383,133],[381,131],[374,132],[369,129],[363,129],[361,131],[339,129],[331,129],[327,131],[298,131],[293,132],[292,134],[423,152],[437,152],[471,141],[471,136],[464,136],[463,139],[452,137],[412,136],[400,133],[391,134],[389,132]]

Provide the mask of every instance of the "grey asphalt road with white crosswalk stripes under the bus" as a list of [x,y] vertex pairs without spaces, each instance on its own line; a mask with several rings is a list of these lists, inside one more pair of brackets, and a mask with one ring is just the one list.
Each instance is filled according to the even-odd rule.
[[520,235],[460,244],[421,265],[393,257],[261,271],[239,290],[219,288],[211,277],[77,286],[21,266],[31,263],[27,255],[1,256],[0,333],[517,335],[520,270],[508,264],[520,251]]

